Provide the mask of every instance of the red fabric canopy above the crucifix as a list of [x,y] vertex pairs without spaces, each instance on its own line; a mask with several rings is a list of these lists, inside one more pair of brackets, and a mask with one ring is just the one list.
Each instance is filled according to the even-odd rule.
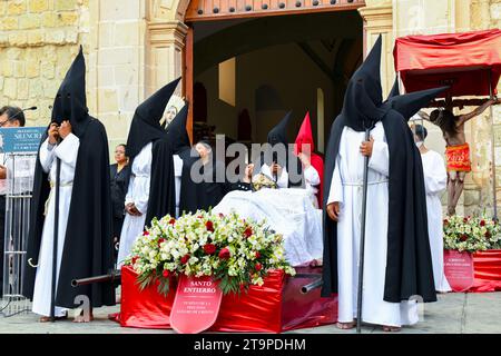
[[501,30],[401,37],[393,56],[406,92],[449,85],[441,97],[489,96],[501,76]]

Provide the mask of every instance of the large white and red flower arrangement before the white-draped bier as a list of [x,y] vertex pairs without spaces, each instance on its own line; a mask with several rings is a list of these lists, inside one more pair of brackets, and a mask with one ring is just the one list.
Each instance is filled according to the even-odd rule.
[[158,281],[167,295],[176,276],[213,276],[223,294],[262,286],[271,270],[295,275],[285,260],[283,237],[266,221],[256,222],[237,214],[198,210],[178,219],[154,219],[136,240],[125,265],[138,274],[140,289]]

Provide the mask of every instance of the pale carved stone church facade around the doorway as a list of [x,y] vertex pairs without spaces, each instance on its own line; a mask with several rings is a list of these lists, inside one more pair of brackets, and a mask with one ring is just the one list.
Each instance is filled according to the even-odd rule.
[[[314,6],[310,2],[304,4]],[[112,150],[126,139],[137,105],[184,75],[188,7],[189,0],[0,1],[0,105],[37,105],[39,110],[28,115],[29,125],[46,125],[48,107],[82,44],[89,109],[105,122]],[[365,49],[383,34],[385,93],[395,76],[396,37],[501,27],[501,0],[365,0],[358,12]],[[487,112],[468,127],[473,172],[461,202],[466,214],[492,201],[492,140],[501,200],[501,106],[493,108],[493,118],[492,123]],[[440,131],[430,131],[430,146],[443,151]]]

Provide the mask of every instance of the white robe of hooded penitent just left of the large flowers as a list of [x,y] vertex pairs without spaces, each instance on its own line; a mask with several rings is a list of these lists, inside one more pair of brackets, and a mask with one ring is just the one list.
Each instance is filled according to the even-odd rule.
[[149,184],[151,177],[153,144],[143,147],[139,155],[134,158],[129,187],[127,189],[125,205],[134,202],[141,212],[140,216],[126,214],[120,234],[120,247],[118,249],[117,265],[121,267],[127,256],[132,250],[134,243],[145,229],[146,212],[149,200]]

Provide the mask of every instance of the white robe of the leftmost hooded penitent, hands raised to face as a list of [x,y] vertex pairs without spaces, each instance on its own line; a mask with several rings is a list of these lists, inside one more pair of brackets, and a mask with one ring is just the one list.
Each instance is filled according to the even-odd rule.
[[[45,172],[49,174],[51,184],[50,195],[47,201],[47,215],[43,222],[40,253],[38,259],[37,276],[35,279],[32,310],[36,314],[50,316],[52,290],[52,251],[53,251],[53,225],[56,214],[56,158],[61,160],[60,189],[59,189],[59,227],[56,285],[59,279],[62,250],[65,248],[66,229],[73,190],[75,167],[77,165],[80,140],[70,134],[59,145],[51,146],[47,139],[40,146],[40,164]],[[63,316],[67,309],[56,307],[56,317]]]

